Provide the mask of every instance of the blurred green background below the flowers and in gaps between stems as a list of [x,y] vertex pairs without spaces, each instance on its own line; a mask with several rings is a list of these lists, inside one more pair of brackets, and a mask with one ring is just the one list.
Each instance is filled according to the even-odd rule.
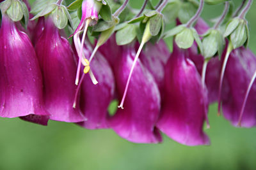
[[[234,1],[237,4],[241,1]],[[140,8],[142,0],[131,0]],[[223,5],[205,5],[202,17]],[[256,3],[248,12],[250,48],[256,49]],[[254,18],[253,18],[254,17]],[[87,130],[49,121],[48,127],[0,118],[0,169],[256,169],[256,129],[232,127],[210,107],[210,146],[183,146],[163,135],[161,144],[135,144],[111,129]]]

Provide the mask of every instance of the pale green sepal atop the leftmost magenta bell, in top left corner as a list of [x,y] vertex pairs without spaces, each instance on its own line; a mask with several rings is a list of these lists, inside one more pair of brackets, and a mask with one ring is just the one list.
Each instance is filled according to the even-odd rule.
[[23,17],[23,11],[20,1],[12,1],[10,8],[6,10],[6,13],[14,22],[21,20]]

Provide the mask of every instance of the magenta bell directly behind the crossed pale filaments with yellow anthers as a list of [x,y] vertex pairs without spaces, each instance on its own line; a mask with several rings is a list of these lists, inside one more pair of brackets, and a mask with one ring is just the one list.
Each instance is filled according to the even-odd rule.
[[[89,57],[92,50],[92,46],[86,42],[84,55]],[[77,124],[87,129],[107,128],[108,106],[113,99],[115,90],[113,72],[108,61],[104,59],[100,52],[96,53],[95,58],[90,63],[90,67],[94,70],[99,83],[94,85],[90,80],[90,76],[83,74],[80,106],[87,120]]]

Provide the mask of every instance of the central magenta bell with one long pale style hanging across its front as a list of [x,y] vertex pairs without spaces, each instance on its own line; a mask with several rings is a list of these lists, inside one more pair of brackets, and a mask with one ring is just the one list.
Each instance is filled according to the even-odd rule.
[[[116,60],[114,74],[118,99],[122,99],[125,83],[136,55],[134,45],[123,47]],[[153,76],[140,59],[136,62],[131,77],[124,109],[118,109],[109,118],[109,125],[122,138],[134,143],[159,143],[161,134],[156,128],[160,111],[160,94]]]

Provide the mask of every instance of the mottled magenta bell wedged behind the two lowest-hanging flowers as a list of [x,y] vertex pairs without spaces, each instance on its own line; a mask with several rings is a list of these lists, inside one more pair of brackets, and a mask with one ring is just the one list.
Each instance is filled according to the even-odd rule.
[[157,86],[161,92],[161,96],[163,96],[164,93],[164,67],[170,57],[170,54],[168,46],[164,40],[161,39],[156,44],[148,42],[140,55],[141,62],[155,78]]

